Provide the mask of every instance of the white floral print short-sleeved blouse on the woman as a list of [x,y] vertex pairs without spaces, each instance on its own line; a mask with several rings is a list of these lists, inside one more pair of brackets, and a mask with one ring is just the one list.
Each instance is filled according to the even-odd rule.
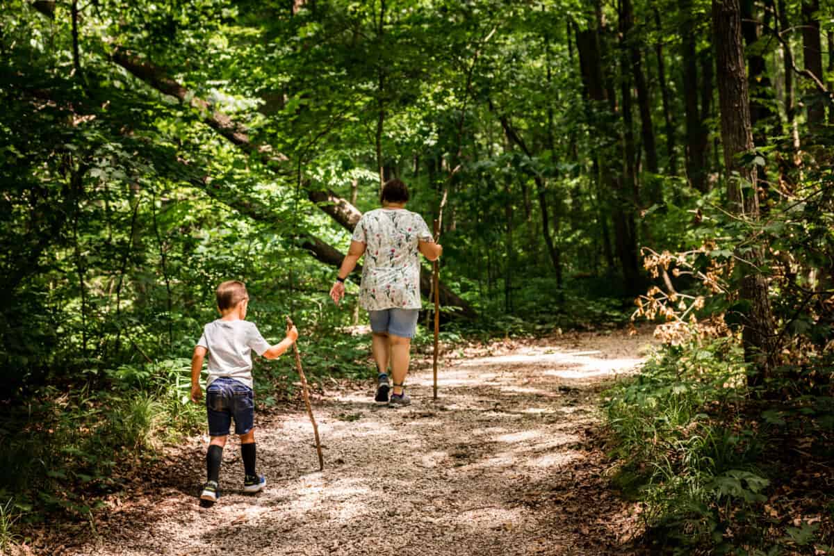
[[420,214],[404,208],[377,208],[362,215],[353,236],[365,244],[359,288],[362,308],[420,308],[420,239],[433,241]]

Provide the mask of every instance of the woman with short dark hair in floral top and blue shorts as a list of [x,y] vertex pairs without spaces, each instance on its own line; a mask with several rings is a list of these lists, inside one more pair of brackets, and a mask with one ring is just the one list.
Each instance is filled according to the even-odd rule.
[[[368,310],[373,334],[373,352],[379,373],[375,400],[392,407],[411,399],[404,393],[409,372],[409,348],[420,312],[420,256],[437,260],[443,247],[435,243],[420,214],[405,210],[409,189],[399,179],[382,188],[382,208],[364,213],[354,229],[348,255],[342,261],[330,297],[336,304],[344,296],[344,279],[356,268],[362,255],[362,285],[359,304]],[[389,400],[388,363],[394,378]]]

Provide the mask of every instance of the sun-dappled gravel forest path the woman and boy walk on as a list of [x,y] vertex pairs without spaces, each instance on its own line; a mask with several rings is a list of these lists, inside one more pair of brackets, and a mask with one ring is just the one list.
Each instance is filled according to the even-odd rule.
[[161,476],[113,498],[95,534],[64,535],[50,552],[631,553],[640,519],[610,491],[599,403],[650,343],[644,329],[455,350],[436,402],[430,361],[417,359],[408,408],[375,405],[370,381],[344,383],[314,399],[323,473],[303,406],[262,413],[264,492],[242,492],[230,441],[223,495],[201,507],[208,438],[192,438],[166,453]]

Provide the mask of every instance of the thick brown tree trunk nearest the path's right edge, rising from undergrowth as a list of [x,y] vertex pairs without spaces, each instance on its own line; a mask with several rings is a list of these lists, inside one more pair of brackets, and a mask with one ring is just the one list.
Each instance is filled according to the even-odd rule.
[[[757,220],[759,200],[756,193],[756,168],[741,166],[736,159],[737,154],[746,153],[753,148],[739,0],[712,0],[712,24],[729,208],[731,213],[739,218]],[[733,170],[751,183],[752,187],[742,188],[741,183],[730,177]],[[738,255],[741,257],[741,253]],[[745,253],[745,256],[749,264],[744,268],[745,276],[741,280],[740,295],[741,299],[748,302],[748,306],[741,338],[746,361],[754,363],[756,367],[756,373],[749,375],[749,382],[756,385],[771,375],[775,367],[774,350],[771,345],[774,325],[767,282],[758,270],[764,263],[764,246],[757,246],[751,253]]]

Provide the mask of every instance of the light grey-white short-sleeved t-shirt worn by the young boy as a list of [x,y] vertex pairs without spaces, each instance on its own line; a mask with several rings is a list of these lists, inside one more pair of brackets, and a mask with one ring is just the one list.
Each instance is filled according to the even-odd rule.
[[197,345],[208,349],[206,387],[217,378],[228,377],[252,388],[252,350],[263,355],[269,349],[269,342],[254,323],[221,318],[205,325]]

